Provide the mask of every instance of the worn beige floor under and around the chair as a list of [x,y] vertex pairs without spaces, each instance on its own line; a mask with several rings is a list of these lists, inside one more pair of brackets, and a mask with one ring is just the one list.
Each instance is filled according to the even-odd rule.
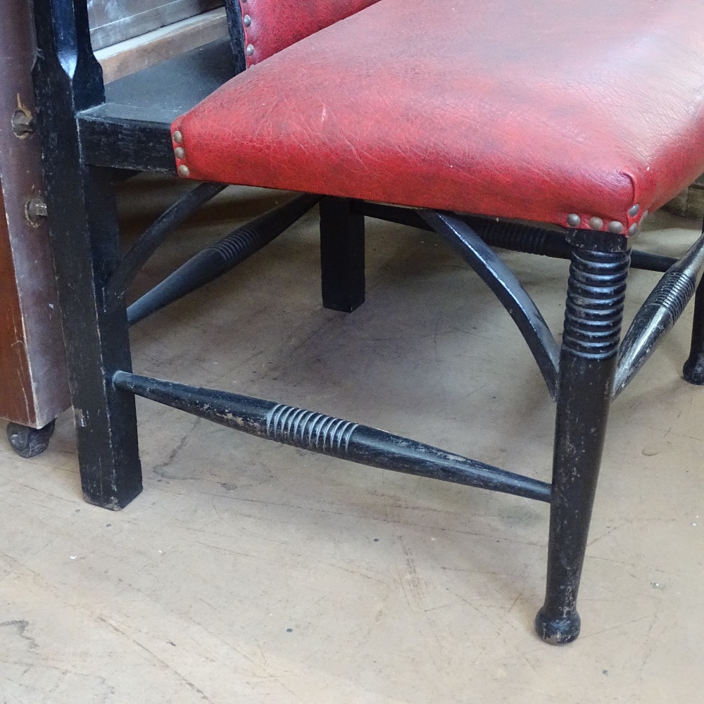
[[[173,197],[128,182],[127,230]],[[281,194],[230,189],[137,282]],[[315,212],[134,329],[136,370],[272,398],[550,475],[553,406],[520,335],[429,234],[370,221],[367,302],[320,305]],[[653,218],[678,253],[697,224]],[[506,253],[559,330],[564,262]],[[628,315],[658,275],[632,272]],[[546,505],[367,469],[139,400],[144,493],[82,501],[70,414],[49,451],[0,442],[0,702],[699,704],[704,389],[691,307],[619,398],[582,636],[534,636]]]

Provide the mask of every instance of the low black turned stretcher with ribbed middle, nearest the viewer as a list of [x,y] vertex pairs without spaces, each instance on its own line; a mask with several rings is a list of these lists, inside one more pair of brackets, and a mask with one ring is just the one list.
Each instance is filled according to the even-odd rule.
[[551,486],[341,418],[262,398],[115,372],[118,389],[257,437],[417,477],[550,502]]

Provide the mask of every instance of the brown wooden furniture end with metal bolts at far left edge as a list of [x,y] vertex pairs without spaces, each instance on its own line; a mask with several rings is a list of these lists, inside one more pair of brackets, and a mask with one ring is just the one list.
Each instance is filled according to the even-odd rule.
[[28,7],[6,0],[0,23],[0,417],[40,428],[69,396],[33,132]]

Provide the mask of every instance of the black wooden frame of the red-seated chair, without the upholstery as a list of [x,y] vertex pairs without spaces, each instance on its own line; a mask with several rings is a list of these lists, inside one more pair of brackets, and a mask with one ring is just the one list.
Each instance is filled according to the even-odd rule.
[[[577,590],[610,403],[693,296],[704,265],[704,237],[675,261],[631,252],[622,234],[559,231],[304,194],[208,247],[127,311],[125,291],[146,259],[178,222],[225,187],[196,187],[120,256],[115,175],[175,172],[172,120],[244,69],[239,5],[228,1],[227,6],[234,63],[222,42],[215,43],[122,79],[108,86],[106,97],[89,42],[86,0],[34,2],[34,82],[46,201],[86,501],[114,510],[142,491],[135,395],[313,452],[546,501],[551,505],[548,583],[536,629],[550,643],[573,640],[579,634]],[[124,99],[130,91],[142,96],[141,104]],[[132,373],[131,322],[232,268],[318,201],[326,307],[351,311],[363,302],[365,217],[433,230],[494,291],[557,401],[551,484],[321,413]],[[561,346],[492,247],[571,259]],[[629,265],[666,273],[621,342]],[[685,377],[704,383],[701,286]]]

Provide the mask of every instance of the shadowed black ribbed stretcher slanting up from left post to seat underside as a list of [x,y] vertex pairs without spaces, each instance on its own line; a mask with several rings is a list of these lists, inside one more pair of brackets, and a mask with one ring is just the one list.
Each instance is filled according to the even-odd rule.
[[296,196],[278,208],[272,208],[255,220],[238,227],[227,237],[197,253],[161,283],[147,291],[142,298],[134,301],[127,309],[127,320],[130,324],[139,322],[156,310],[161,310],[169,303],[222,276],[291,227],[319,200],[320,196]]

